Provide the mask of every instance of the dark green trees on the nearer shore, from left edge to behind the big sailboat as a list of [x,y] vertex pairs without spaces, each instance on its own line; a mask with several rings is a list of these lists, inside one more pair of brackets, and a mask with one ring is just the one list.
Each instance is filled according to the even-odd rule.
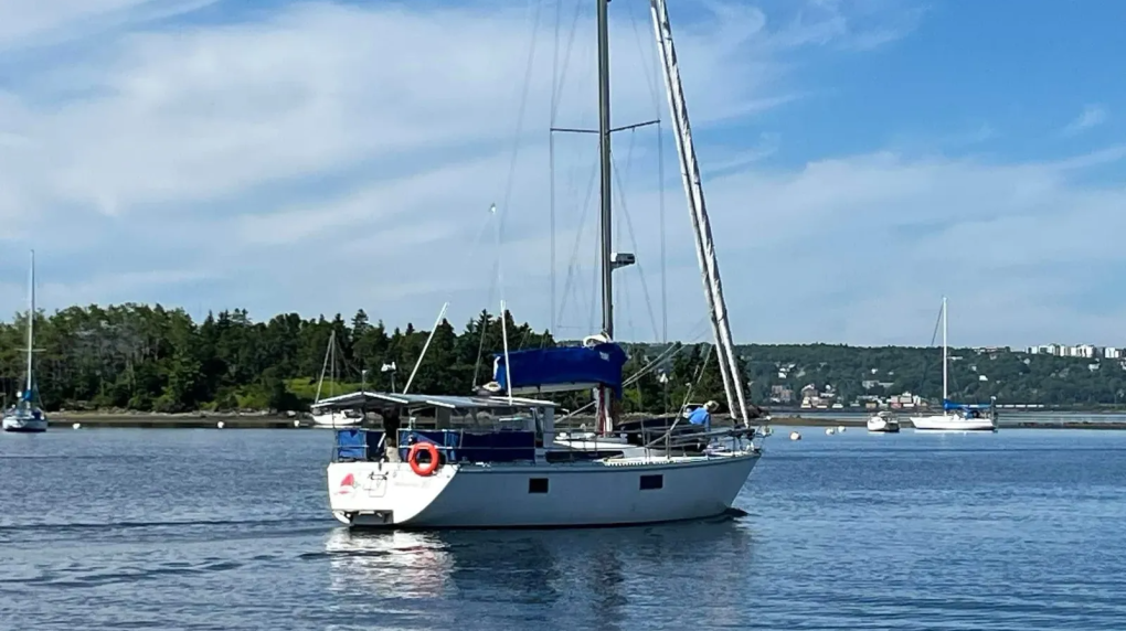
[[[517,324],[511,313],[503,317],[502,330],[498,316],[482,312],[459,333],[441,321],[410,391],[471,394],[491,381],[493,353],[504,348],[502,331],[510,351],[556,344],[549,332]],[[8,402],[26,379],[26,321],[25,313],[0,324],[0,379]],[[303,411],[319,387],[321,398],[361,386],[402,391],[429,335],[411,324],[388,330],[363,309],[349,322],[340,314],[330,319],[295,313],[253,322],[245,309],[233,309],[197,323],[182,308],[161,305],[73,306],[36,314],[35,384],[48,411]],[[626,350],[627,375],[655,358],[641,345]],[[718,382],[718,371],[700,370],[700,350],[678,354],[667,367],[676,376],[668,382],[698,382],[705,388],[700,396],[716,396],[711,384]],[[647,372],[626,394],[624,411],[664,409],[686,389],[667,387]],[[572,393],[561,404],[573,408],[589,399],[588,393]]]

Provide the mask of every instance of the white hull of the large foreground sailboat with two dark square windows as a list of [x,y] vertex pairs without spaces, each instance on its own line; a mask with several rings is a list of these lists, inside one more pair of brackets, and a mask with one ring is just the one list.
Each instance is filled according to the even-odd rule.
[[[446,465],[427,477],[402,462],[333,462],[328,485],[332,514],[352,526],[625,525],[721,515],[758,459],[757,451],[749,451],[563,465]],[[660,479],[661,487],[642,489],[642,476]],[[530,493],[535,478],[547,479],[546,493]]]

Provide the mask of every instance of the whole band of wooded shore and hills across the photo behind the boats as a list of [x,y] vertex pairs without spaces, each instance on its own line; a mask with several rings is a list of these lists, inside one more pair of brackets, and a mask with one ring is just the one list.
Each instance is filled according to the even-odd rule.
[[[506,314],[509,350],[557,342],[549,332],[517,324]],[[503,340],[498,316],[482,312],[461,330],[443,321],[434,332],[410,391],[468,394],[492,378],[493,353]],[[25,375],[26,314],[0,324],[0,379],[8,400]],[[253,322],[244,309],[208,314],[195,322],[181,308],[160,305],[69,307],[39,312],[35,321],[35,372],[39,399],[48,411],[304,411],[313,402],[334,341],[322,396],[360,387],[401,391],[426,344],[429,331],[391,327],[357,312],[303,318],[277,315]],[[633,375],[667,346],[623,344]],[[707,344],[665,353],[668,379],[649,371],[626,389],[624,412],[662,412],[690,398],[723,402],[723,388]],[[792,407],[803,388],[831,391],[850,405],[858,399],[912,393],[941,395],[939,350],[858,348],[834,344],[740,345],[751,400],[767,408]],[[1043,404],[1057,407],[1116,407],[1126,404],[1126,370],[1120,360],[1028,355],[1008,350],[951,350],[951,398],[967,402]],[[713,358],[704,363],[704,358]],[[384,371],[394,364],[396,370]],[[703,368],[701,368],[703,364]],[[361,373],[361,371],[364,371]],[[780,391],[793,393],[785,405]],[[589,394],[560,403],[578,407]]]

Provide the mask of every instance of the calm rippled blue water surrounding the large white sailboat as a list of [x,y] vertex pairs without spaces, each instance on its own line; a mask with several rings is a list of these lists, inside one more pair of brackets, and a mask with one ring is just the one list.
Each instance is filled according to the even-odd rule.
[[329,432],[0,435],[0,628],[1126,629],[1126,432],[776,430],[745,517],[365,535]]

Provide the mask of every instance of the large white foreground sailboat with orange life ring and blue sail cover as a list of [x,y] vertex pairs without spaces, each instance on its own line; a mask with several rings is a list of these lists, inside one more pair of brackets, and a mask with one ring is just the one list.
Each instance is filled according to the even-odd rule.
[[[613,272],[634,255],[611,247],[611,172],[608,0],[598,0],[598,102],[601,331],[581,345],[494,355],[492,388],[468,396],[360,391],[319,402],[322,407],[369,406],[390,418],[434,414],[434,430],[406,427],[337,431],[327,485],[333,516],[349,526],[520,528],[605,526],[718,516],[758,463],[762,449],[747,396],[720,282],[664,0],[651,0],[677,152],[696,236],[696,251],[716,344],[716,360],[734,426],[698,430],[712,447],[698,453],[623,449],[611,440],[626,354],[614,337]],[[501,317],[504,304],[501,303]],[[503,319],[502,319],[503,322]],[[425,357],[427,346],[422,349]],[[421,361],[421,358],[420,360]],[[409,387],[409,386],[408,386]],[[595,393],[598,432],[606,450],[556,441],[557,404],[549,396]],[[682,438],[682,436],[681,436]],[[659,442],[659,441],[654,441]]]

